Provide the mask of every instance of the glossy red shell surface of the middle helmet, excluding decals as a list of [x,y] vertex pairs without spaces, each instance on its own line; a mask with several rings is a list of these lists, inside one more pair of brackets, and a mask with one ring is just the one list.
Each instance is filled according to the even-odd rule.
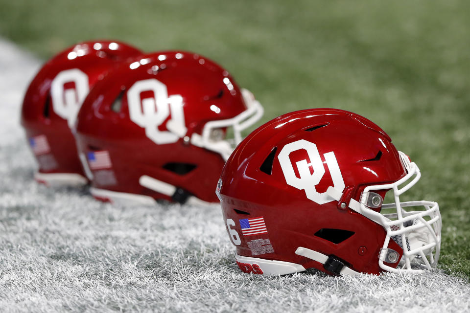
[[[213,190],[225,164],[219,154],[189,144],[183,138],[157,144],[147,137],[145,128],[131,120],[128,90],[136,82],[147,79],[163,83],[168,96],[181,95],[188,138],[193,133],[200,134],[207,121],[232,118],[246,110],[240,89],[230,74],[198,54],[162,51],[122,64],[96,84],[78,114],[80,150],[84,153],[109,151],[116,176],[115,184],[103,185],[94,179],[92,185],[172,201],[171,197],[139,184],[139,178],[147,175],[180,187],[204,201],[217,201]],[[233,88],[229,89],[224,80],[229,80]],[[140,101],[153,97],[152,93],[141,92]],[[215,112],[212,106],[220,111]],[[158,130],[167,131],[165,123],[170,117],[171,114]],[[188,174],[179,175],[163,168],[171,162],[196,167]]]

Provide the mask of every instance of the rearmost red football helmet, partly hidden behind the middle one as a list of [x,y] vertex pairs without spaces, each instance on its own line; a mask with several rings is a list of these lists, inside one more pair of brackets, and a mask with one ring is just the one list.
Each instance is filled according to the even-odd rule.
[[47,185],[86,184],[71,132],[89,89],[136,48],[111,41],[84,42],[60,52],[26,91],[21,123],[39,164],[35,179]]

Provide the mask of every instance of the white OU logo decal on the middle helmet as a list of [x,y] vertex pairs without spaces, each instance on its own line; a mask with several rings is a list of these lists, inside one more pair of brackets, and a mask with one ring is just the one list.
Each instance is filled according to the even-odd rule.
[[[153,91],[153,97],[141,99],[141,93]],[[145,134],[156,144],[173,143],[184,137],[188,129],[185,126],[183,98],[181,95],[168,97],[166,86],[152,78],[136,82],[127,91],[127,103],[131,120],[142,128]],[[168,131],[158,127],[164,123]]]

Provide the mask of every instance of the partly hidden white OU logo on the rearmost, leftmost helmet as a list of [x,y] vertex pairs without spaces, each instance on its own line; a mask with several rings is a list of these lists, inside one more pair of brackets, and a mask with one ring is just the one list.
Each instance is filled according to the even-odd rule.
[[[74,88],[66,88],[74,84]],[[77,119],[77,113],[88,94],[90,85],[88,76],[78,68],[61,71],[52,80],[50,95],[52,108],[57,115],[66,119],[71,128]]]

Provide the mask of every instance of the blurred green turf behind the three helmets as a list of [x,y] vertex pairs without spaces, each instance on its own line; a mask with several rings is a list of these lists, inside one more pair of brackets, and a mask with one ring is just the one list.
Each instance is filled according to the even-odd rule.
[[43,59],[90,39],[191,50],[252,90],[263,121],[317,107],[370,118],[420,166],[412,197],[440,203],[442,267],[470,276],[469,12],[457,0],[0,0],[0,35]]

